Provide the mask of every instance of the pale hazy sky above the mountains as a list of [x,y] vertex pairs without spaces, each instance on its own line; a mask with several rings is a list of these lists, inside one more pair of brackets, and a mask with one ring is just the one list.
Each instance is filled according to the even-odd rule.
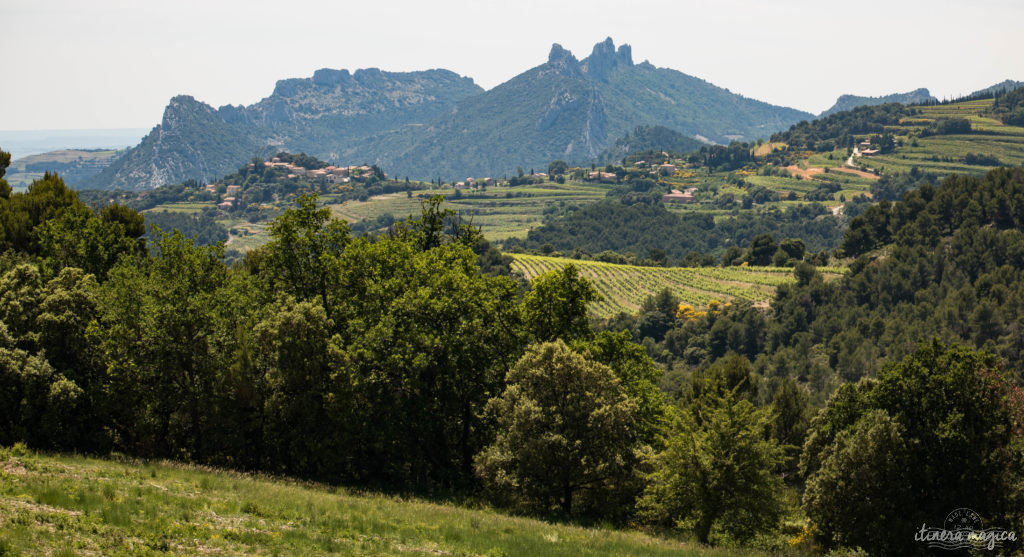
[[1024,2],[0,0],[0,130],[156,125],[319,68],[445,68],[492,88],[605,37],[634,60],[818,113],[843,93],[1024,81]]

